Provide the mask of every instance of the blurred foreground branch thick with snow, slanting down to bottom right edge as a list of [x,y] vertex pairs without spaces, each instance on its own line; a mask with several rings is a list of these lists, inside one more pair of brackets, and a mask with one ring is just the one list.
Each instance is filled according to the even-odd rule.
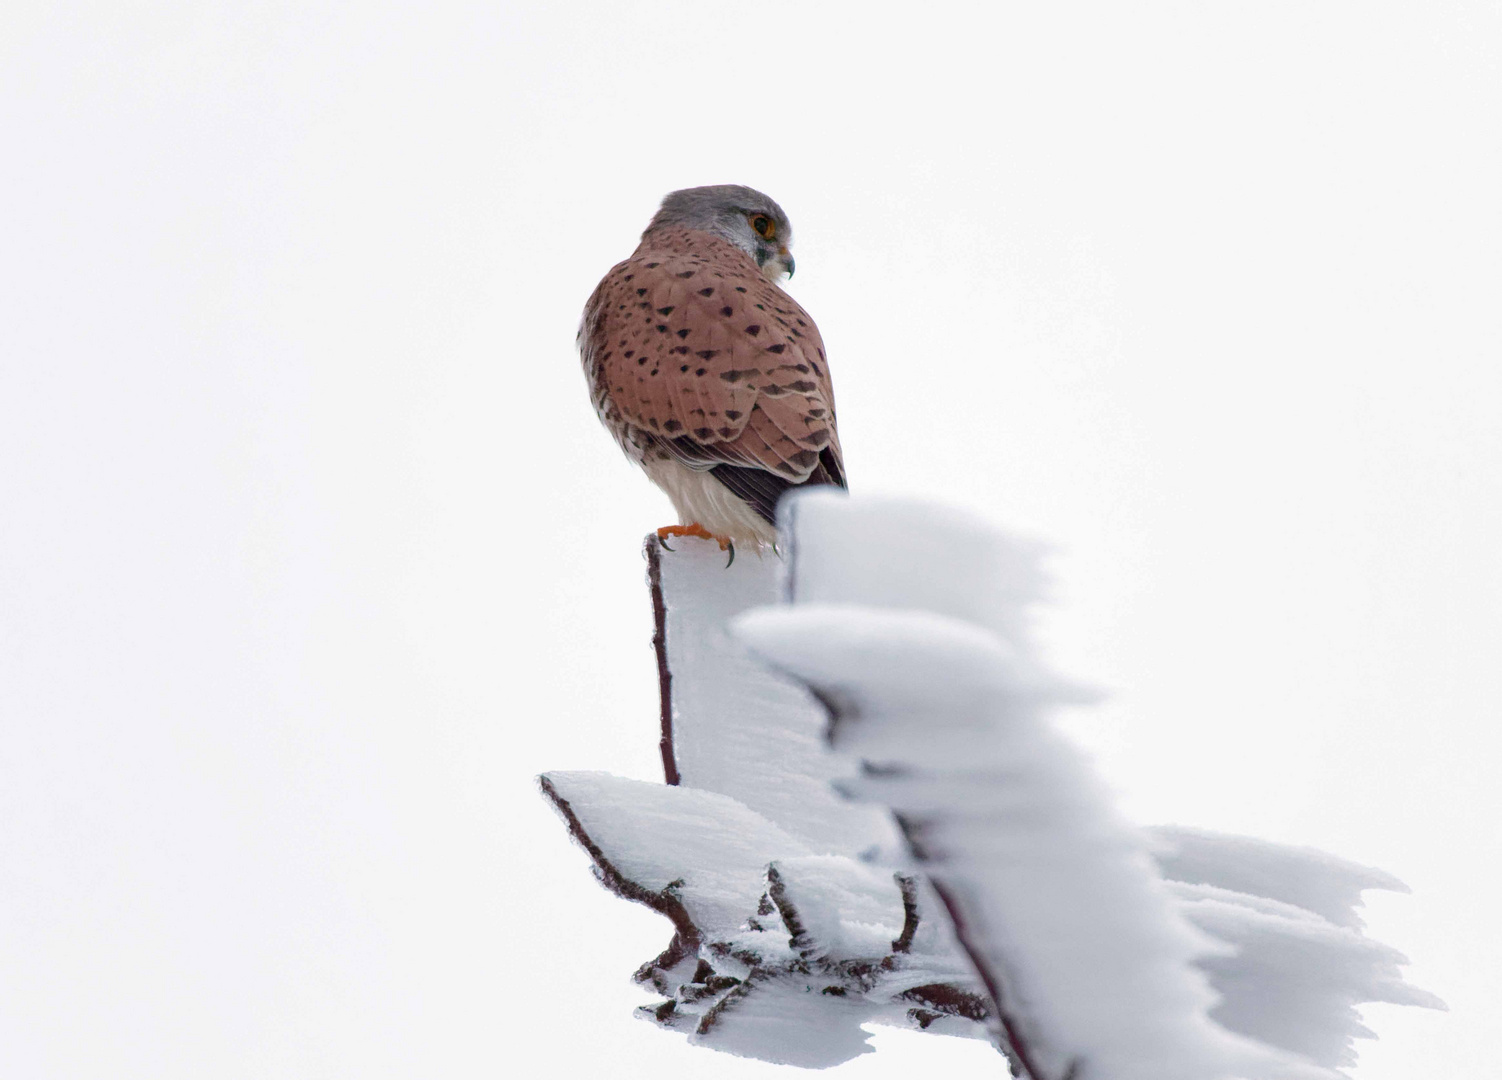
[[835,748],[873,766],[846,790],[903,822],[1014,1017],[1029,1072],[1320,1075],[1211,1023],[1215,996],[1193,961],[1217,946],[1181,915],[1083,754],[1044,723],[1069,698],[1036,664],[922,611],[796,604],[734,628],[838,703]]

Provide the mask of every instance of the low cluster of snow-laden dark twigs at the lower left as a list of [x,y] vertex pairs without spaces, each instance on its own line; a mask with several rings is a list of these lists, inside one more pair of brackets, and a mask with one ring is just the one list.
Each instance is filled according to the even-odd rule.
[[805,1068],[870,1051],[864,1023],[985,1035],[984,988],[913,882],[904,897],[891,871],[810,853],[713,792],[601,772],[551,772],[542,790],[601,883],[674,924],[637,972],[668,999],[643,1017]]

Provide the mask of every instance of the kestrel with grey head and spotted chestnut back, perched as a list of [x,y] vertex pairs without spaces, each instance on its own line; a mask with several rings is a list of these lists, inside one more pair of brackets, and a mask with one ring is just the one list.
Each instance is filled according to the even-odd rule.
[[584,305],[595,410],[682,518],[659,536],[771,544],[784,491],[846,485],[825,342],[774,284],[792,242],[759,191],[674,191]]

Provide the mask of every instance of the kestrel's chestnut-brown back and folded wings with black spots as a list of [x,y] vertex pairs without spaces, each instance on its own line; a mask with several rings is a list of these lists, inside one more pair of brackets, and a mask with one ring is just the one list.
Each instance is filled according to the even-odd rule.
[[580,335],[617,437],[710,470],[768,518],[787,487],[844,487],[819,327],[737,248],[649,234],[605,275]]

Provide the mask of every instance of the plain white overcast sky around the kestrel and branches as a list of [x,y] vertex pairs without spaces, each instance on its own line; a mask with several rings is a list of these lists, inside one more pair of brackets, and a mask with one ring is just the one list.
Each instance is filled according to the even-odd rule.
[[629,1015],[532,781],[659,777],[574,329],[740,182],[853,487],[1060,545],[1128,813],[1406,879],[1355,1075],[1494,1074],[1502,17],[1134,8],[8,9],[0,1071],[793,1075]]

